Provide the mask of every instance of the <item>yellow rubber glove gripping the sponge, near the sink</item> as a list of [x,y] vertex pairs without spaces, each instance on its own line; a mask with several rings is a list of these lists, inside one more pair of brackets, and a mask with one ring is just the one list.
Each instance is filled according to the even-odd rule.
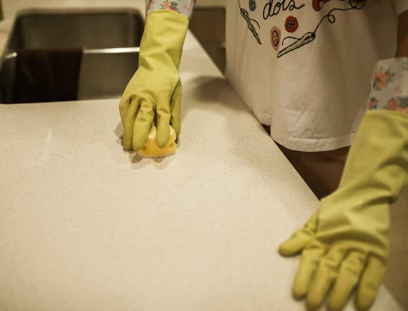
[[170,123],[176,135],[180,134],[178,69],[188,21],[188,17],[169,10],[153,11],[146,18],[139,68],[119,103],[124,144],[128,150],[143,148],[153,121],[157,122],[155,139],[160,148],[169,141]]

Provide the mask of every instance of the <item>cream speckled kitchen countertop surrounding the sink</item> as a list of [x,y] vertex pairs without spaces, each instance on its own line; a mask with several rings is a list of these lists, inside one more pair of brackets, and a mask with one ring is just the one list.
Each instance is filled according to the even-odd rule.
[[[57,3],[101,6],[35,7]],[[277,246],[317,199],[190,33],[181,77],[161,160],[122,150],[119,99],[0,105],[1,310],[304,310]]]

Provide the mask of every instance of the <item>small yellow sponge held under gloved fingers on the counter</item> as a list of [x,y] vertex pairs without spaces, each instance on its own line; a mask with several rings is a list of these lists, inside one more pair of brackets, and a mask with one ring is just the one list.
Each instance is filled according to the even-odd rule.
[[137,153],[143,157],[148,158],[158,158],[158,157],[166,157],[170,155],[174,155],[176,152],[176,132],[170,125],[170,139],[167,145],[164,148],[159,148],[156,144],[156,127],[154,124],[150,130],[149,136],[147,138],[147,142],[145,146],[138,150]]

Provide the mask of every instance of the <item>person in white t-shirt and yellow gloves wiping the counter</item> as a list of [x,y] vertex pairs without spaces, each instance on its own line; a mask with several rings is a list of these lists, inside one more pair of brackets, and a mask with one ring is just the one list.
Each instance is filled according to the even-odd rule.
[[[169,124],[180,134],[194,2],[146,2],[139,69],[119,103],[127,149],[144,146],[153,122],[160,147]],[[332,288],[328,307],[341,310],[357,288],[367,310],[408,178],[408,1],[231,0],[226,23],[227,80],[322,199],[279,247],[302,253],[293,296],[316,310]]]

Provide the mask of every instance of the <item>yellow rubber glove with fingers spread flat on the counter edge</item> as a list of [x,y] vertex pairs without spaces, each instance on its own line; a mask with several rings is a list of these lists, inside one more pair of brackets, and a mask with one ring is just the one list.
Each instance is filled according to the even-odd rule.
[[408,116],[366,112],[347,157],[338,190],[321,201],[303,229],[279,247],[302,252],[293,295],[320,307],[331,286],[329,310],[341,310],[357,286],[356,306],[372,305],[389,255],[389,206],[408,176]]

